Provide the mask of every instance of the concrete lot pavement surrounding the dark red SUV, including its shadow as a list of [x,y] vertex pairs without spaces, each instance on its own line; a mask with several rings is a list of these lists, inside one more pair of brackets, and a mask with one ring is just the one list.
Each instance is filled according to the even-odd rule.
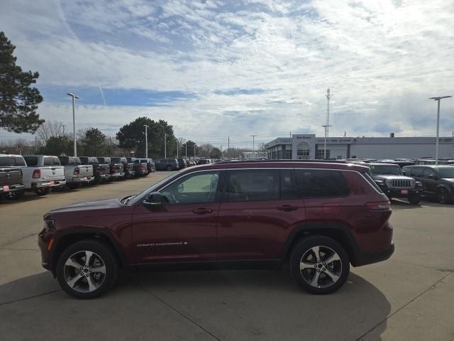
[[131,274],[91,301],[60,290],[40,265],[43,214],[167,175],[1,203],[0,340],[454,340],[454,205],[430,201],[394,201],[392,258],[352,268],[328,296],[284,271]]

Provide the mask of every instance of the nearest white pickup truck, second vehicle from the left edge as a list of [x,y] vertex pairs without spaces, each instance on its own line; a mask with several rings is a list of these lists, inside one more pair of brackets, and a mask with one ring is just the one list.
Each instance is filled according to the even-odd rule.
[[46,195],[51,188],[65,186],[65,168],[60,165],[57,156],[24,155],[23,158],[27,163],[27,167],[22,168],[26,190]]

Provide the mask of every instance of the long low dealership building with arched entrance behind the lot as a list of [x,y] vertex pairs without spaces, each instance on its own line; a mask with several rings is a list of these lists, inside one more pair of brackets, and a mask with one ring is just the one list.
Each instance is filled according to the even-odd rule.
[[[315,159],[324,157],[324,137],[292,134],[265,144],[270,159]],[[440,137],[439,157],[454,158],[454,138]],[[330,137],[327,158],[422,158],[435,157],[435,137]]]

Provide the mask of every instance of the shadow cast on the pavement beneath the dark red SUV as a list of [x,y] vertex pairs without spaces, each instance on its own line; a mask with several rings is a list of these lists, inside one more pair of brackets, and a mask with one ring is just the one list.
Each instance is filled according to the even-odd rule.
[[[384,294],[353,273],[326,296],[301,291],[279,271],[129,274],[92,301],[67,296],[48,272],[0,285],[0,320],[9,326],[2,328],[9,340],[45,340],[49,321],[65,331],[59,340],[98,334],[100,325],[116,340],[128,340],[137,325],[141,335],[153,335],[156,321],[173,326],[161,339],[174,340],[187,320],[223,340],[379,340],[390,311]],[[84,323],[87,313],[96,323]],[[127,328],[122,320],[131,321]],[[24,328],[29,321],[33,328]]]

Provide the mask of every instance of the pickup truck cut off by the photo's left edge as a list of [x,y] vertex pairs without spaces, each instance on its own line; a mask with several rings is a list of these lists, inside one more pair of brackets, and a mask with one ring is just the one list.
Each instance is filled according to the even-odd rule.
[[20,155],[0,154],[0,200],[23,195],[22,168],[26,162]]

